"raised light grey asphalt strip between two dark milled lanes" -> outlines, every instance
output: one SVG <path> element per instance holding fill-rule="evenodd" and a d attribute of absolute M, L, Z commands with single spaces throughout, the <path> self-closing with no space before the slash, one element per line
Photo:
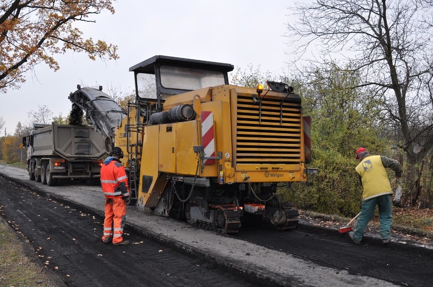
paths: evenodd
<path fill-rule="evenodd" d="M 80 209 L 104 216 L 104 195 L 100 187 L 48 187 L 28 180 L 26 170 L 1 165 L 0 174 L 50 196 L 56 201 L 79 206 Z M 179 252 L 205 258 L 222 267 L 236 270 L 259 281 L 280 286 L 395 286 L 373 277 L 350 274 L 347 270 L 324 267 L 314 262 L 266 248 L 251 242 L 197 229 L 186 223 L 128 208 L 128 228 Z M 101 231 L 102 232 L 102 231 Z M 249 254 L 249 255 L 247 255 Z"/>

